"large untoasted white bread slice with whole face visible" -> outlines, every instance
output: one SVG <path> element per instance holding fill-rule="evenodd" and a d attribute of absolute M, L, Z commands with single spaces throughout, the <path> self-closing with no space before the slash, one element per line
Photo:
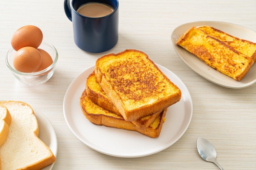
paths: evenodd
<path fill-rule="evenodd" d="M 11 114 L 9 135 L 0 146 L 1 170 L 40 170 L 55 162 L 52 151 L 38 137 L 39 127 L 30 105 L 4 101 Z"/>

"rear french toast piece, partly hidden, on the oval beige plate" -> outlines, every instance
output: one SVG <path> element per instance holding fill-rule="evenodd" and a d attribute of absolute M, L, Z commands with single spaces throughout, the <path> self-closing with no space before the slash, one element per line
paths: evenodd
<path fill-rule="evenodd" d="M 242 54 L 251 57 L 254 62 L 256 61 L 256 43 L 234 37 L 211 26 L 198 26 L 197 28 L 205 31 L 211 37 L 214 37 L 224 42 L 225 44 L 233 47 L 235 50 L 241 52 Z"/>

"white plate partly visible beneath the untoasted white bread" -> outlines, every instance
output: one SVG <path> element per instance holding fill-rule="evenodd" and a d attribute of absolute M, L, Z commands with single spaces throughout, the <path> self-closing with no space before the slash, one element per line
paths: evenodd
<path fill-rule="evenodd" d="M 39 126 L 39 138 L 52 150 L 52 153 L 57 157 L 58 142 L 56 133 L 51 122 L 46 118 L 46 116 L 40 111 L 34 109 L 36 119 Z M 54 163 L 43 168 L 42 170 L 51 170 L 54 166 Z"/>

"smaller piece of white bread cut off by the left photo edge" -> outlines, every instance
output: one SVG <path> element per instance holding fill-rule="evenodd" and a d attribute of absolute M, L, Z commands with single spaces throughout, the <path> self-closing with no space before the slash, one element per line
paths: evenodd
<path fill-rule="evenodd" d="M 7 139 L 10 124 L 11 115 L 8 109 L 4 105 L 0 105 L 0 146 L 2 146 Z"/>

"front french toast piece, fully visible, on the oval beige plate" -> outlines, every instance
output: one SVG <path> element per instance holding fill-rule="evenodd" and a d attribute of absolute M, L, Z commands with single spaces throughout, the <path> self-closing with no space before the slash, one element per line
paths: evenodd
<path fill-rule="evenodd" d="M 200 28 L 192 27 L 176 42 L 213 69 L 240 81 L 254 64 L 251 57 L 211 37 Z"/>

